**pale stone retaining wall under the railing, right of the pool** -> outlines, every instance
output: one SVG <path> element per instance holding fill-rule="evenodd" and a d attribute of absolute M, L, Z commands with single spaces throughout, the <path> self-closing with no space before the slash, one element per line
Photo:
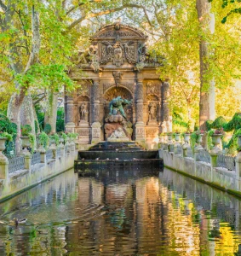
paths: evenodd
<path fill-rule="evenodd" d="M 164 166 L 169 169 L 241 196 L 238 162 L 236 163 L 236 171 L 229 171 L 226 168 L 215 167 L 203 161 L 196 161 L 190 157 L 183 157 L 181 154 L 168 152 L 168 150 L 159 149 L 158 151 L 159 157 L 164 160 Z"/>

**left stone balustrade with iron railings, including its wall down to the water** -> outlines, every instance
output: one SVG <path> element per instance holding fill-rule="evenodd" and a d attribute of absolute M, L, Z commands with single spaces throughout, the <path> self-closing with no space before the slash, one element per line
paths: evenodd
<path fill-rule="evenodd" d="M 66 143 L 47 151 L 42 147 L 34 154 L 4 157 L 0 161 L 0 201 L 73 168 L 77 150 L 72 145 Z"/>

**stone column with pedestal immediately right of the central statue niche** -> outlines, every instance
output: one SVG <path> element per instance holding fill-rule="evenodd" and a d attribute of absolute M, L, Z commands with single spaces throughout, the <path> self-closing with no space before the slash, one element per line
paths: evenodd
<path fill-rule="evenodd" d="M 143 79 L 137 79 L 136 84 L 135 141 L 145 142 L 145 127 L 143 122 Z"/>

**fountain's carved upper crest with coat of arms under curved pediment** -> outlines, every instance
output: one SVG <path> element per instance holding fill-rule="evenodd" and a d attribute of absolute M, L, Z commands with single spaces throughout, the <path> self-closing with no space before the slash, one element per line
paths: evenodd
<path fill-rule="evenodd" d="M 141 30 L 120 22 L 102 26 L 91 38 L 92 44 L 81 62 L 95 73 L 106 67 L 131 67 L 139 72 L 150 64 L 156 67 L 157 58 L 152 59 L 147 53 L 146 39 Z"/>

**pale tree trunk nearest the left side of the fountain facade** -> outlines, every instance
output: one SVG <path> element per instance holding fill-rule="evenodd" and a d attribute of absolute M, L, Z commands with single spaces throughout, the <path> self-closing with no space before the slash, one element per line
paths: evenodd
<path fill-rule="evenodd" d="M 45 116 L 44 125 L 49 124 L 52 127 L 51 132 L 56 132 L 57 108 L 58 108 L 58 92 L 50 92 L 49 103 Z"/>

